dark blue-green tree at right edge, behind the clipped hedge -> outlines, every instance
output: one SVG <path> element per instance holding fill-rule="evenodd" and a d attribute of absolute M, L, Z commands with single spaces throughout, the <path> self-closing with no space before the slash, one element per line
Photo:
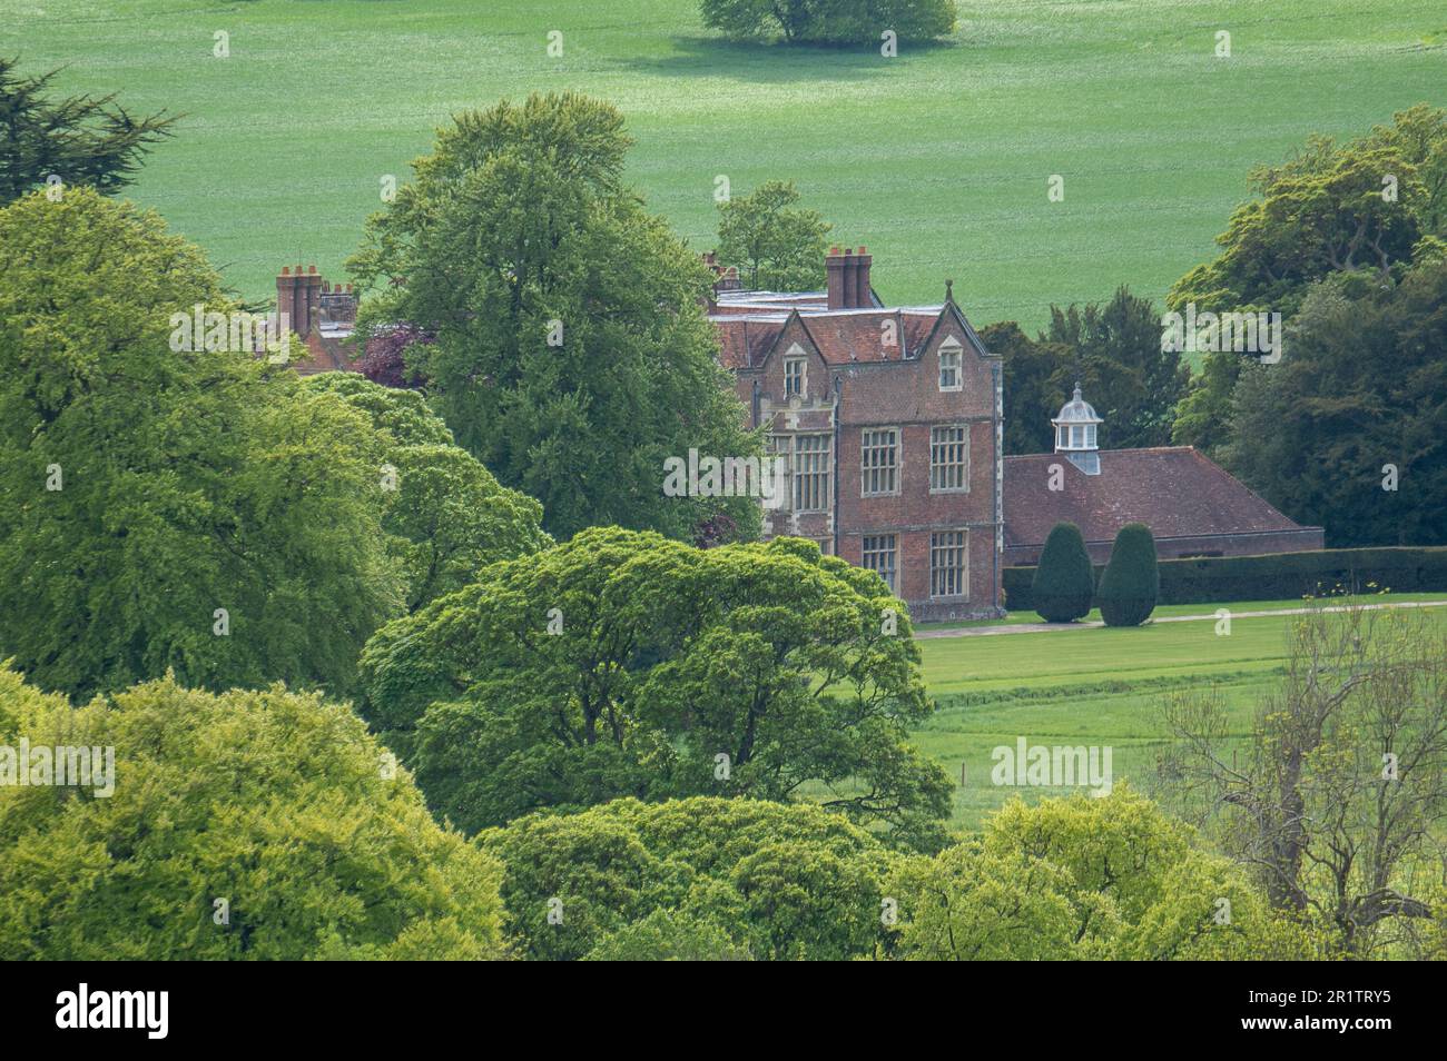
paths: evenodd
<path fill-rule="evenodd" d="M 1447 544 L 1447 262 L 1307 296 L 1231 392 L 1224 464 L 1334 546 Z"/>

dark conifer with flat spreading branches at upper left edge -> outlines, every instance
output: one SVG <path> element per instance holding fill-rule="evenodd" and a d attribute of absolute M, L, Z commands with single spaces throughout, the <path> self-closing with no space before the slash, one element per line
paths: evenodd
<path fill-rule="evenodd" d="M 171 136 L 179 116 L 136 117 L 116 95 L 49 100 L 61 71 L 22 77 L 19 61 L 0 56 L 0 205 L 45 185 L 90 185 L 113 192 L 135 179 L 140 156 Z"/>

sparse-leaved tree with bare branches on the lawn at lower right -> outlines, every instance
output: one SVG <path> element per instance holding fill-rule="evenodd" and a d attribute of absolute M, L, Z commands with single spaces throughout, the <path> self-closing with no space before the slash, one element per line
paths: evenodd
<path fill-rule="evenodd" d="M 1314 609 L 1286 674 L 1230 740 L 1218 691 L 1165 705 L 1162 778 L 1272 903 L 1350 957 L 1391 955 L 1441 911 L 1447 639 L 1402 610 Z"/>

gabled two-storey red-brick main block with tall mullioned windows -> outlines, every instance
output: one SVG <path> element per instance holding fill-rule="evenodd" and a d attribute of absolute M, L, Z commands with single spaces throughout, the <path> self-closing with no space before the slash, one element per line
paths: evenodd
<path fill-rule="evenodd" d="M 886 308 L 864 247 L 829 252 L 822 292 L 738 291 L 708 260 L 722 361 L 787 471 L 765 536 L 878 571 L 917 620 L 998 614 L 1001 366 L 949 288 Z"/>

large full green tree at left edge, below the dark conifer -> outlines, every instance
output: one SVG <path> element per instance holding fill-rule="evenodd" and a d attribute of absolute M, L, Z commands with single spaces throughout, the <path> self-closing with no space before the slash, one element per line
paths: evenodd
<path fill-rule="evenodd" d="M 172 314 L 234 306 L 152 212 L 35 192 L 0 247 L 0 656 L 82 697 L 346 688 L 399 604 L 378 432 L 249 351 L 172 350 Z"/>

